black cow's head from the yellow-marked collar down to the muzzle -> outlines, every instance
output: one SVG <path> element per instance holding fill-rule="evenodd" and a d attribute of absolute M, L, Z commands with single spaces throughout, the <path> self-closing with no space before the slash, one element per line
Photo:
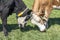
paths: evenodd
<path fill-rule="evenodd" d="M 26 26 L 27 21 L 30 19 L 30 12 L 31 10 L 26 8 L 22 13 L 18 14 L 19 27 L 24 28 Z"/>

